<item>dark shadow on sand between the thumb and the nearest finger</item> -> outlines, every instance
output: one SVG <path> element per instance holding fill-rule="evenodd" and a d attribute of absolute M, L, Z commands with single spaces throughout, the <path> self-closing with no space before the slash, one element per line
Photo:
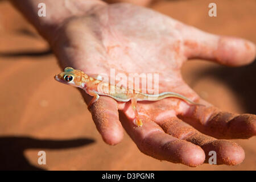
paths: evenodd
<path fill-rule="evenodd" d="M 197 74 L 195 80 L 200 80 L 200 77 L 206 76 L 224 82 L 237 94 L 245 112 L 256 114 L 256 60 L 243 67 L 230 68 L 218 65 L 215 68 L 205 69 Z"/>

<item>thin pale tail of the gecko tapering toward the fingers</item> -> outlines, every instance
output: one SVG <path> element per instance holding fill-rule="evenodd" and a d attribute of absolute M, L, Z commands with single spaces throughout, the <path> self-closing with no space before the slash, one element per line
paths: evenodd
<path fill-rule="evenodd" d="M 189 98 L 182 96 L 181 94 L 175 93 L 175 92 L 163 92 L 160 94 L 143 94 L 143 96 L 147 97 L 147 101 L 159 101 L 167 97 L 173 97 L 173 98 L 179 98 L 183 101 L 188 102 L 189 104 L 193 105 L 199 105 L 199 106 L 205 106 L 203 104 L 199 104 L 196 102 L 191 101 Z"/>

